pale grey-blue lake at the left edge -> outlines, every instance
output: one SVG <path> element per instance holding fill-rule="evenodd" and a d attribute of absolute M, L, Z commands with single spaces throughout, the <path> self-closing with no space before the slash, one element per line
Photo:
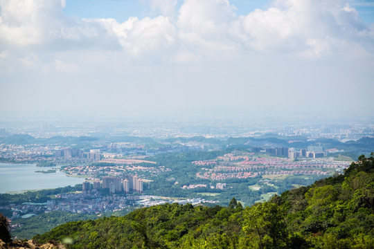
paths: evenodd
<path fill-rule="evenodd" d="M 56 169 L 58 167 L 53 167 Z M 22 192 L 24 190 L 44 190 L 56 187 L 74 186 L 84 182 L 84 178 L 69 177 L 56 169 L 56 173 L 37 173 L 51 167 L 36 167 L 33 164 L 0 163 L 0 193 Z"/>

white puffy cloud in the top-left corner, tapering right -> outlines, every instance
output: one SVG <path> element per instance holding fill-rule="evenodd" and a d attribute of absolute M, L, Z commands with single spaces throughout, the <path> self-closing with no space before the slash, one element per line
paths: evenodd
<path fill-rule="evenodd" d="M 46 49 L 101 44 L 108 34 L 98 25 L 74 21 L 62 13 L 64 0 L 1 0 L 0 44 L 9 47 L 43 46 Z M 112 37 L 114 39 L 115 37 Z"/>

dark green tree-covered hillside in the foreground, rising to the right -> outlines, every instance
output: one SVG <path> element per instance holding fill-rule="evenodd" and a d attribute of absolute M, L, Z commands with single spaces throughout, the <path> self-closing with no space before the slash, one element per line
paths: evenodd
<path fill-rule="evenodd" d="M 374 158 L 242 208 L 165 204 L 34 237 L 66 248 L 374 248 Z"/>

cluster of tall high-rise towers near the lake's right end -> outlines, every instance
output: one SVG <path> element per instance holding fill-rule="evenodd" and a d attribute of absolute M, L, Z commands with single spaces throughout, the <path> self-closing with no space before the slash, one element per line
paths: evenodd
<path fill-rule="evenodd" d="M 145 180 L 139 178 L 139 176 L 104 176 L 102 183 L 100 181 L 94 181 L 94 190 L 98 189 L 109 189 L 109 193 L 130 192 L 143 193 L 143 183 Z M 82 183 L 82 190 L 89 191 L 91 189 L 91 183 L 88 181 Z"/>

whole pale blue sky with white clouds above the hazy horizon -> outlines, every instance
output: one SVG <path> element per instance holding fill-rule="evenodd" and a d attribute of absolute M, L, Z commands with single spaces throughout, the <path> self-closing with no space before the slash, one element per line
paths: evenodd
<path fill-rule="evenodd" d="M 6 116 L 374 116 L 374 1 L 0 0 Z"/>

